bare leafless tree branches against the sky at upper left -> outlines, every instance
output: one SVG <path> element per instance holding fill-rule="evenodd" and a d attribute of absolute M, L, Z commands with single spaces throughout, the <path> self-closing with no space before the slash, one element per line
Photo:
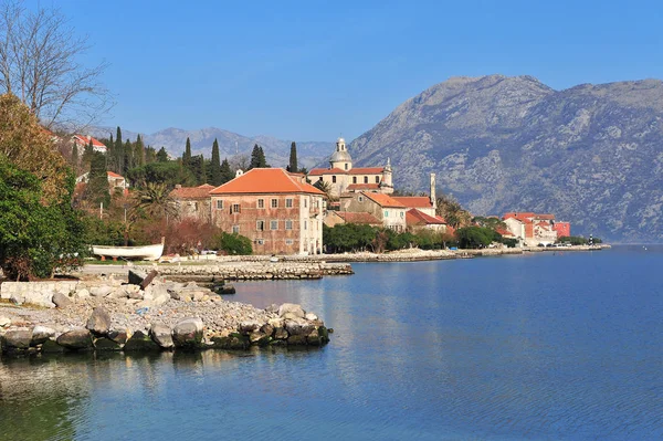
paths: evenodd
<path fill-rule="evenodd" d="M 88 49 L 60 10 L 0 0 L 0 93 L 19 96 L 46 127 L 74 132 L 113 106 L 101 82 L 108 63 L 80 63 Z"/>

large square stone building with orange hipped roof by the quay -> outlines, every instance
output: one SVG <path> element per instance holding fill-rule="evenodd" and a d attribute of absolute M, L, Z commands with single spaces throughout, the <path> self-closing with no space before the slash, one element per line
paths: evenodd
<path fill-rule="evenodd" d="M 322 253 L 325 193 L 303 175 L 254 168 L 209 195 L 212 222 L 249 238 L 255 254 Z"/>

